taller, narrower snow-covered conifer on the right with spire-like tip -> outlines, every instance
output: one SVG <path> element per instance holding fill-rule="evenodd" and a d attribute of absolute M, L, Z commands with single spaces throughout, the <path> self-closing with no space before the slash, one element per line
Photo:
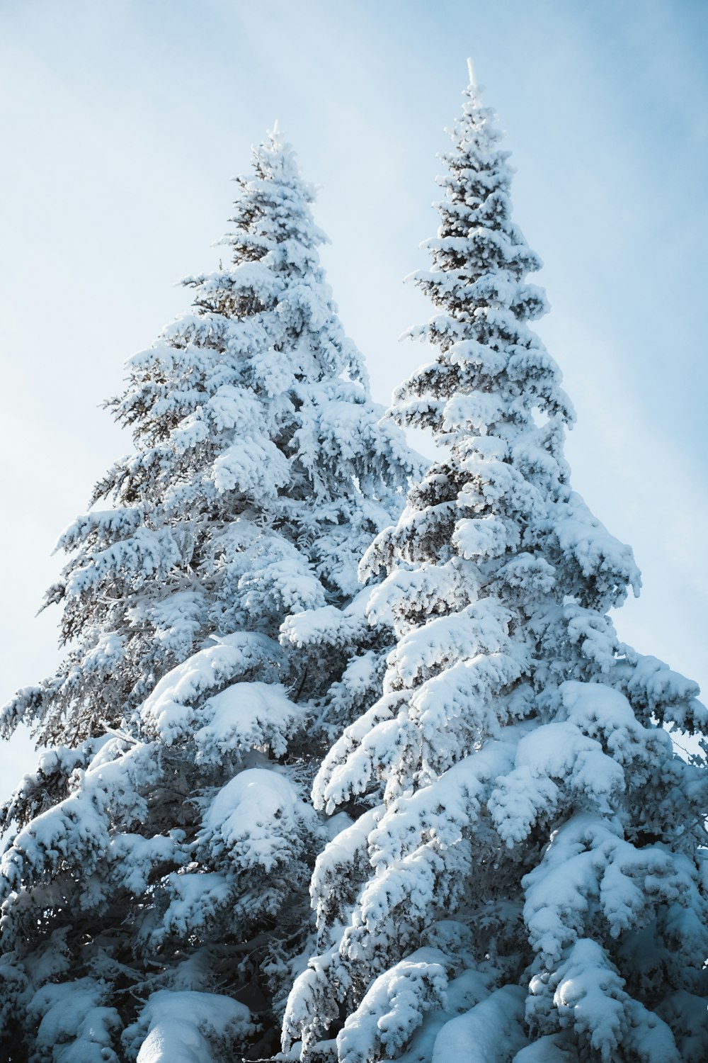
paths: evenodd
<path fill-rule="evenodd" d="M 471 71 L 470 71 L 471 73 Z M 569 488 L 540 267 L 470 79 L 441 180 L 435 359 L 394 415 L 443 451 L 364 563 L 398 642 L 315 783 L 368 805 L 318 857 L 320 955 L 291 993 L 308 1063 L 708 1059 L 697 687 L 617 639 L 632 552 Z M 336 1034 L 334 1039 L 334 1034 Z"/>

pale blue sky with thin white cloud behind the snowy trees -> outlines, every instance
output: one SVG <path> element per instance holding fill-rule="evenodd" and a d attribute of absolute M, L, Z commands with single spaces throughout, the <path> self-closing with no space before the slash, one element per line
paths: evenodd
<path fill-rule="evenodd" d="M 51 552 L 131 449 L 101 403 L 217 266 L 276 118 L 375 398 L 427 360 L 403 277 L 468 55 L 546 264 L 573 486 L 643 573 L 620 637 L 708 689 L 706 54 L 702 0 L 0 0 L 0 703 L 58 662 Z M 33 761 L 0 743 L 0 797 Z"/>

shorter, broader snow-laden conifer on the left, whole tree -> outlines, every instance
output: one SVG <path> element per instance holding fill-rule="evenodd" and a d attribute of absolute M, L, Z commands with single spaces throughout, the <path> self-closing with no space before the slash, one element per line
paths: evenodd
<path fill-rule="evenodd" d="M 4 808 L 3 1061 L 277 1044 L 327 709 L 378 696 L 357 566 L 419 468 L 378 423 L 277 131 L 254 166 L 232 267 L 187 280 L 193 313 L 109 404 L 137 450 L 62 537 L 66 661 L 3 712 L 51 746 Z"/>

